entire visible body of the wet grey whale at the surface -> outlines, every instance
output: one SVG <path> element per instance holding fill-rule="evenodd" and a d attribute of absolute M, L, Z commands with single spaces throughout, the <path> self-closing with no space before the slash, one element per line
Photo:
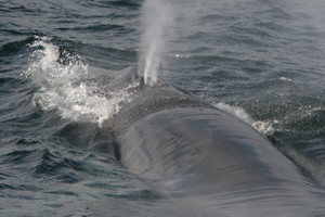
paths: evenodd
<path fill-rule="evenodd" d="M 103 128 L 131 173 L 196 203 L 203 216 L 325 214 L 316 196 L 324 192 L 247 124 L 176 85 L 145 86 L 136 68 L 113 77 L 105 91 L 125 89 L 131 100 Z"/>

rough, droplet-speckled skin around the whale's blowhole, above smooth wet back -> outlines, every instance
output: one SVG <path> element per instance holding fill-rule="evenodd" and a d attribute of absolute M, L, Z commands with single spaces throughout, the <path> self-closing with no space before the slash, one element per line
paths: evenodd
<path fill-rule="evenodd" d="M 139 76 L 135 67 L 129 67 L 115 75 L 113 81 L 106 86 L 105 92 L 126 97 L 119 104 L 119 112 L 103 123 L 105 129 L 116 135 L 123 132 L 140 118 L 165 108 L 188 106 L 213 108 L 190 91 L 162 79 L 158 78 L 153 87 L 144 85 L 143 77 Z"/>

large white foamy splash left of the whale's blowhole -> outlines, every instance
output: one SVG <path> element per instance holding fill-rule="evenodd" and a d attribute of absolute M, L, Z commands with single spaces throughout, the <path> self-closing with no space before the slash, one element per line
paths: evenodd
<path fill-rule="evenodd" d="M 87 61 L 60 51 L 51 39 L 37 38 L 29 46 L 35 51 L 24 76 L 39 87 L 32 100 L 42 111 L 56 108 L 63 118 L 94 120 L 101 125 L 118 113 L 121 101 L 129 99 L 122 91 L 106 98 L 101 82 L 89 81 Z"/>

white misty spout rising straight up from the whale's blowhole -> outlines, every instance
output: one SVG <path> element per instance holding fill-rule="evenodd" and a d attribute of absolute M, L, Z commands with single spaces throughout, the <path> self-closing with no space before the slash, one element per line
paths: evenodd
<path fill-rule="evenodd" d="M 164 33 L 171 22 L 171 9 L 166 0 L 145 0 L 142 7 L 144 31 L 139 60 L 140 74 L 143 73 L 145 85 L 154 86 L 157 81 L 158 68 L 166 51 Z"/>

